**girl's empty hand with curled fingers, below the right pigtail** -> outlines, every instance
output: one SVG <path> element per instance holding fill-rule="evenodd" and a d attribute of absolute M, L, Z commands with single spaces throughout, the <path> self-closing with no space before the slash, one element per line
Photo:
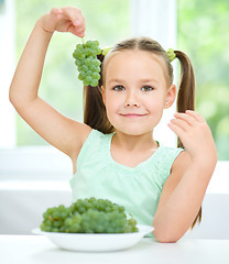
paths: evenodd
<path fill-rule="evenodd" d="M 175 113 L 168 127 L 181 139 L 193 162 L 199 165 L 214 165 L 217 162 L 216 145 L 205 119 L 190 110 Z"/>

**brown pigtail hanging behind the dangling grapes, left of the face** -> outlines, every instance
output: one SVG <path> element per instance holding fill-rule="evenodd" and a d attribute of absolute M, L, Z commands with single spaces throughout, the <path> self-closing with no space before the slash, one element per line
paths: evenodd
<path fill-rule="evenodd" d="M 103 55 L 98 59 L 103 61 Z M 101 75 L 101 73 L 100 73 Z M 101 96 L 102 76 L 97 87 L 84 86 L 84 123 L 91 129 L 96 129 L 105 134 L 113 132 L 113 127 L 109 122 Z"/>

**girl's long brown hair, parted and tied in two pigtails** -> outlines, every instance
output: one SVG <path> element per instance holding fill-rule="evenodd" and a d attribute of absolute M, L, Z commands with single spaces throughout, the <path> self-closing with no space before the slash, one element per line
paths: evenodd
<path fill-rule="evenodd" d="M 84 87 L 84 122 L 92 129 L 99 130 L 102 133 L 111 133 L 115 128 L 109 122 L 106 113 L 106 108 L 102 102 L 101 86 L 105 81 L 106 65 L 113 54 L 124 51 L 146 51 L 161 58 L 166 67 L 166 79 L 168 85 L 173 84 L 173 66 L 164 48 L 150 37 L 133 37 L 116 44 L 111 51 L 106 55 L 99 55 L 101 61 L 101 78 L 97 87 Z M 181 51 L 175 51 L 175 55 L 181 63 L 181 78 L 178 85 L 177 96 L 177 111 L 185 112 L 186 110 L 195 109 L 195 77 L 192 63 L 187 55 Z M 177 141 L 177 146 L 183 147 L 181 140 Z M 201 221 L 201 207 L 192 224 L 192 229 L 196 222 Z"/>

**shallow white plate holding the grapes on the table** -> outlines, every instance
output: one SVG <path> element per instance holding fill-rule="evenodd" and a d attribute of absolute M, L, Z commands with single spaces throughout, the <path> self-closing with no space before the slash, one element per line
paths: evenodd
<path fill-rule="evenodd" d="M 47 237 L 54 244 L 70 251 L 118 251 L 137 244 L 145 234 L 151 233 L 151 226 L 137 226 L 134 233 L 57 233 L 44 232 L 40 228 L 33 229 L 32 233 Z"/>

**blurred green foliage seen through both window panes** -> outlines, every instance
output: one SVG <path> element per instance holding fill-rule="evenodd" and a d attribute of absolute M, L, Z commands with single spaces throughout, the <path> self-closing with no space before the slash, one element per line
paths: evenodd
<path fill-rule="evenodd" d="M 130 36 L 130 0 L 15 0 L 17 61 L 36 20 L 51 8 L 76 6 L 86 16 L 86 40 L 111 46 Z M 196 73 L 196 110 L 212 131 L 219 160 L 229 160 L 229 1 L 177 0 L 177 47 L 186 52 Z M 83 86 L 72 53 L 80 38 L 54 34 L 40 95 L 59 112 L 83 121 Z M 18 145 L 46 144 L 18 117 Z"/>

